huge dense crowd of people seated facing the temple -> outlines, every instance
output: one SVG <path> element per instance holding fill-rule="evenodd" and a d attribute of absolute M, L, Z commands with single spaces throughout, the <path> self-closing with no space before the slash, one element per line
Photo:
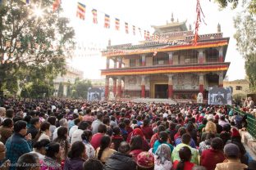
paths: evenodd
<path fill-rule="evenodd" d="M 7 99 L 0 106 L 0 170 L 256 169 L 241 141 L 243 119 L 225 105 Z"/>

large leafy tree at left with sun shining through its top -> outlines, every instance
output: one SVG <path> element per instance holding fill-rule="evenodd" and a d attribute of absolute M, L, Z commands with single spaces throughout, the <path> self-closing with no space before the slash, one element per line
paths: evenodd
<path fill-rule="evenodd" d="M 51 83 L 74 45 L 74 29 L 61 8 L 53 12 L 53 0 L 30 2 L 9 0 L 0 8 L 0 90 L 10 80 Z"/>

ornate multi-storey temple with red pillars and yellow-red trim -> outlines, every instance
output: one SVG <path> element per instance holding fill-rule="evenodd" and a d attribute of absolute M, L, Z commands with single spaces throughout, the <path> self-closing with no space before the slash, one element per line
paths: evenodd
<path fill-rule="evenodd" d="M 138 45 L 109 45 L 103 51 L 106 97 L 112 91 L 117 97 L 195 99 L 202 92 L 207 98 L 209 87 L 223 86 L 230 65 L 224 61 L 229 38 L 222 37 L 220 25 L 216 34 L 199 35 L 197 45 L 185 22 L 172 20 L 153 28 L 153 36 Z"/>

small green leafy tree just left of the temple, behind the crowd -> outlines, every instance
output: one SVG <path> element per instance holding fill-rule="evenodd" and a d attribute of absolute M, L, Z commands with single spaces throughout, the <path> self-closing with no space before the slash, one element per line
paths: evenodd
<path fill-rule="evenodd" d="M 89 87 L 92 87 L 92 83 L 89 80 L 75 80 L 75 84 L 72 86 L 72 97 L 73 98 L 84 98 L 87 99 L 87 93 Z"/>

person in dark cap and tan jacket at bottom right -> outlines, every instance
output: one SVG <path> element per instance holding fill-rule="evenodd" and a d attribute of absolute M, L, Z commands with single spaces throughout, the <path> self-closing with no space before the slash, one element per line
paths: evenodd
<path fill-rule="evenodd" d="M 215 170 L 243 170 L 247 165 L 240 163 L 240 150 L 235 144 L 226 144 L 224 147 L 224 154 L 226 161 L 224 163 L 217 163 Z"/>

